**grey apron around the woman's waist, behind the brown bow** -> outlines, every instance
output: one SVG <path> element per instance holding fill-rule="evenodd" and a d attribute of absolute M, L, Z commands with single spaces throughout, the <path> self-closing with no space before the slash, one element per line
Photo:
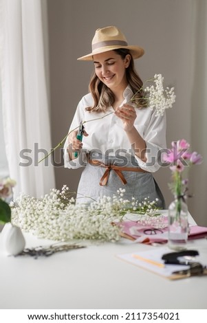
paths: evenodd
<path fill-rule="evenodd" d="M 130 168 L 139 167 L 133 156 L 130 156 L 130 158 L 127 159 L 127 163 L 125 159 L 124 164 L 123 160 L 120 161 L 120 159 L 111 156 L 99 160 L 106 165 L 109 163 Z M 113 194 L 117 194 L 117 190 L 124 188 L 124 199 L 131 201 L 131 198 L 134 197 L 140 203 L 144 201 L 144 198 L 148 198 L 149 201 L 158 199 L 157 206 L 165 209 L 164 197 L 151 172 L 122 170 L 122 175 L 124 175 L 124 178 L 127 180 L 127 183 L 123 184 L 116 172 L 111 169 L 107 184 L 105 186 L 100 186 L 100 179 L 102 175 L 104 175 L 105 170 L 106 168 L 104 167 L 93 166 L 87 163 L 87 166 L 85 166 L 80 177 L 76 203 L 91 203 L 103 196 L 113 197 Z"/>

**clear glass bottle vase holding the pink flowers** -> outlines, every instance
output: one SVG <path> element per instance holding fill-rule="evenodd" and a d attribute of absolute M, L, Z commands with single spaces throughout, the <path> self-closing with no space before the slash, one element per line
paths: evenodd
<path fill-rule="evenodd" d="M 168 207 L 168 247 L 186 249 L 188 240 L 188 206 L 182 198 L 175 198 Z"/>

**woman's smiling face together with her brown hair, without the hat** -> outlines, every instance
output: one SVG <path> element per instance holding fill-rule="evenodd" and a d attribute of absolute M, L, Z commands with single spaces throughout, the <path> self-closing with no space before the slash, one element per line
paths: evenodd
<path fill-rule="evenodd" d="M 129 49 L 114 49 L 113 51 L 105 52 L 102 54 L 96 54 L 94 57 L 95 71 L 91 78 L 89 89 L 94 98 L 94 107 L 90 110 L 106 111 L 109 103 L 116 110 L 122 103 L 123 96 L 122 88 L 126 88 L 128 83 L 133 89 L 135 98 L 138 100 L 138 106 L 145 106 L 146 101 L 142 99 L 144 93 L 142 91 L 142 80 L 135 72 L 133 66 L 133 58 Z M 100 60 L 100 62 L 96 62 Z M 96 85 L 98 82 L 98 85 Z M 96 96 L 96 86 L 102 87 L 102 92 L 108 94 L 99 100 L 99 96 Z M 113 96 L 110 96 L 111 91 L 113 91 Z"/>

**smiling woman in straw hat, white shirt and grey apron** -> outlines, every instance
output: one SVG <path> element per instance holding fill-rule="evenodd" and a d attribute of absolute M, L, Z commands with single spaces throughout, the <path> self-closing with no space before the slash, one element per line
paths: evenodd
<path fill-rule="evenodd" d="M 127 45 L 122 32 L 109 26 L 96 30 L 92 52 L 78 58 L 94 61 L 90 93 L 78 104 L 64 147 L 65 167 L 85 167 L 78 202 L 124 188 L 125 199 L 149 197 L 164 208 L 152 172 L 160 168 L 159 151 L 166 147 L 166 120 L 146 107 L 133 64 L 143 54 L 144 49 Z M 83 141 L 77 137 L 80 122 Z"/>

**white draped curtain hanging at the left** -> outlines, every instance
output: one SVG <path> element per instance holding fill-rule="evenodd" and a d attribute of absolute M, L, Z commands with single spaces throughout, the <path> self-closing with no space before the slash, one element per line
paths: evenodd
<path fill-rule="evenodd" d="M 0 0 L 3 125 L 10 177 L 20 192 L 41 197 L 54 188 L 41 0 Z M 40 153 L 40 150 L 44 153 Z"/>

